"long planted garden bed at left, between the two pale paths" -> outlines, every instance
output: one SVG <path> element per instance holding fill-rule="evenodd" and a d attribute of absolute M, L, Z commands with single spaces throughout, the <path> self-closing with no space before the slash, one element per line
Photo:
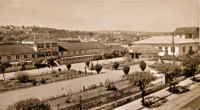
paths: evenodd
<path fill-rule="evenodd" d="M 28 73 L 22 73 L 28 74 Z M 84 77 L 88 75 L 94 75 L 93 72 L 84 73 L 82 71 L 70 70 L 70 71 L 52 71 L 51 73 L 28 76 L 26 82 L 21 82 L 17 78 L 12 78 L 10 80 L 0 82 L 0 93 L 18 90 L 23 88 L 29 88 L 33 86 L 40 86 L 42 84 L 49 84 L 63 80 L 69 80 L 79 77 Z"/>

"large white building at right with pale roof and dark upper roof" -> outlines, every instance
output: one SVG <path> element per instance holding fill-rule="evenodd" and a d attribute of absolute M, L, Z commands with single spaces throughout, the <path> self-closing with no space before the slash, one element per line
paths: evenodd
<path fill-rule="evenodd" d="M 187 55 L 189 50 L 199 49 L 199 28 L 177 28 L 173 35 L 153 36 L 148 39 L 136 41 L 133 45 L 150 45 L 161 49 L 165 55 Z M 174 42 L 173 42 L 174 41 Z M 173 49 L 174 44 L 174 49 Z"/>

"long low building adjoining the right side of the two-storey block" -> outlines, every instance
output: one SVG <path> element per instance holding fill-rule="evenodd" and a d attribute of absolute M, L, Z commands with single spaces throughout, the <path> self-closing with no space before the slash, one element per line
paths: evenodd
<path fill-rule="evenodd" d="M 59 42 L 60 64 L 90 61 L 95 54 L 102 54 L 106 46 L 98 42 L 67 43 Z"/>

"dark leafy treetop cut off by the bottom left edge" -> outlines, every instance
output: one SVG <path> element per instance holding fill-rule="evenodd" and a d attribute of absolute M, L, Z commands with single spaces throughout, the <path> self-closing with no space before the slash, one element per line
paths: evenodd
<path fill-rule="evenodd" d="M 39 99 L 30 98 L 9 105 L 7 110 L 51 110 L 51 106 Z"/>

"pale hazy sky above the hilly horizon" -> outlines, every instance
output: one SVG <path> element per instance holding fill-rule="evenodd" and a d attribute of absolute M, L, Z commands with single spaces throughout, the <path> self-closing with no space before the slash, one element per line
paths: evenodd
<path fill-rule="evenodd" d="M 0 0 L 0 25 L 171 32 L 199 26 L 199 0 Z"/>

